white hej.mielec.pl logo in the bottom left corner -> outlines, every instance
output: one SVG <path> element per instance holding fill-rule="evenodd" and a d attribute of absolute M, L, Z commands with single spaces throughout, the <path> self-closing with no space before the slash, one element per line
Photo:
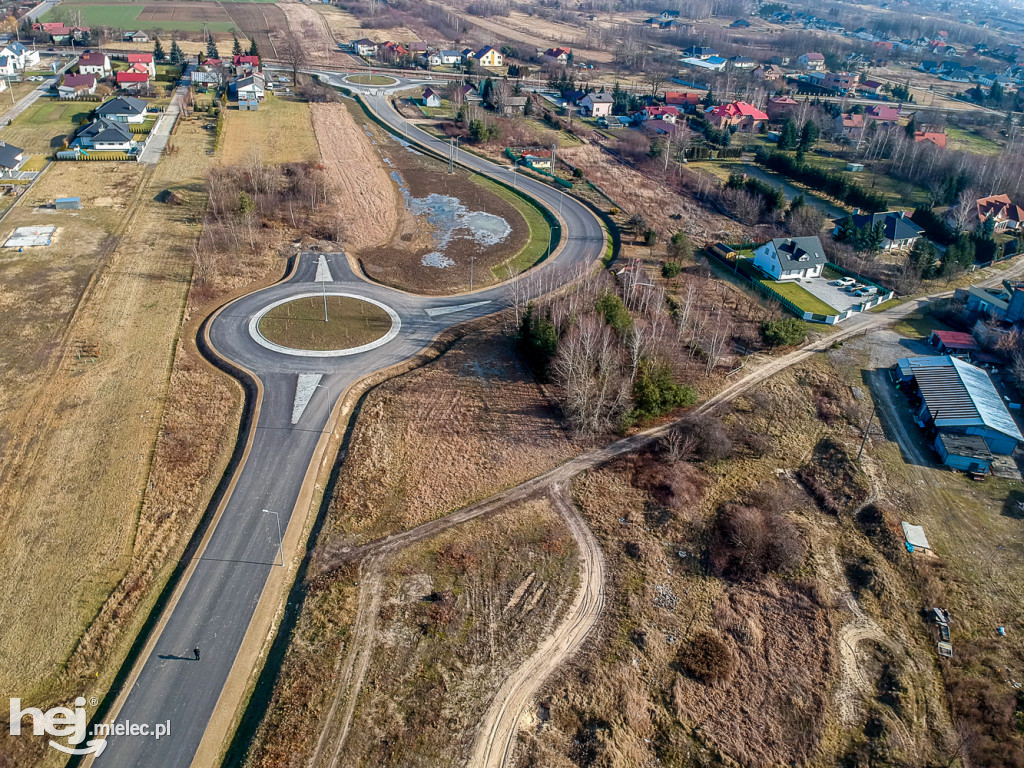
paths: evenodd
<path fill-rule="evenodd" d="M 106 736 L 154 736 L 160 739 L 171 734 L 171 721 L 157 723 L 150 726 L 148 723 L 124 722 L 96 723 L 92 726 L 91 732 L 88 727 L 88 718 L 85 714 L 85 697 L 79 696 L 75 699 L 75 709 L 68 707 L 54 707 L 43 712 L 36 707 L 26 707 L 22 709 L 22 699 L 10 699 L 10 735 L 19 736 L 22 734 L 22 724 L 26 718 L 31 720 L 32 733 L 36 736 L 51 736 L 49 743 L 54 750 L 59 750 L 66 755 L 90 755 L 97 757 L 106 749 Z M 96 736 L 86 741 L 88 736 Z M 67 740 L 67 744 L 54 741 L 54 738 Z M 84 746 L 80 746 L 82 742 Z"/>

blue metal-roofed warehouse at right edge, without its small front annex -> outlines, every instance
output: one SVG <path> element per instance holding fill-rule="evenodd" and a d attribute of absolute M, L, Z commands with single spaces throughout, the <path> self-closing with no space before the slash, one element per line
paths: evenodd
<path fill-rule="evenodd" d="M 919 424 L 939 432 L 978 435 L 993 454 L 1012 454 L 1024 435 L 1002 402 L 988 374 L 949 355 L 904 357 L 899 380 L 913 380 L 922 404 Z"/>

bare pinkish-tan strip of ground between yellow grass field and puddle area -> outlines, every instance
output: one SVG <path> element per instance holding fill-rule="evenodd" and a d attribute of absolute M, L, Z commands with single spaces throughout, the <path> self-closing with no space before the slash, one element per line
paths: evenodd
<path fill-rule="evenodd" d="M 338 207 L 346 247 L 359 250 L 387 242 L 398 223 L 398 198 L 380 155 L 344 104 L 309 109 L 325 172 L 336 199 L 346 201 Z"/>

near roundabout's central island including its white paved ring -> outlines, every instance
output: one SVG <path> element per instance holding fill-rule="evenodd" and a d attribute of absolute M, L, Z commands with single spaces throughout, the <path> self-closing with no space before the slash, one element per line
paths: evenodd
<path fill-rule="evenodd" d="M 387 344 L 401 318 L 387 304 L 337 291 L 306 291 L 267 304 L 249 321 L 260 346 L 299 357 L 342 357 Z"/>

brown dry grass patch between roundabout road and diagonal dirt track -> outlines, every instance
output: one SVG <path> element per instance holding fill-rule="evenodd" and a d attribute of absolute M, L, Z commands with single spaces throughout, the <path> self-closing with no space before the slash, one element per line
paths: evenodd
<path fill-rule="evenodd" d="M 380 387 L 362 407 L 329 525 L 349 543 L 418 525 L 582 450 L 497 330 Z"/>

